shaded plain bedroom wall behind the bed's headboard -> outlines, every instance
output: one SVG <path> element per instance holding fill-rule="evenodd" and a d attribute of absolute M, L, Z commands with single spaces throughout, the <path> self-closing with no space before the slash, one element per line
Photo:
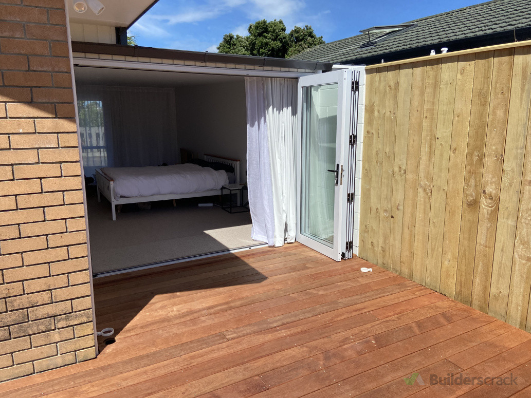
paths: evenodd
<path fill-rule="evenodd" d="M 245 80 L 182 86 L 175 89 L 178 142 L 181 148 L 240 161 L 247 181 Z"/>

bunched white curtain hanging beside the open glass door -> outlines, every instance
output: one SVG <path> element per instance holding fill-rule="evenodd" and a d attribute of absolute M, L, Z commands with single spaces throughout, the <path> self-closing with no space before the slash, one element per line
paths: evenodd
<path fill-rule="evenodd" d="M 295 241 L 297 82 L 246 77 L 247 186 L 253 239 Z M 265 239 L 264 239 L 265 238 Z"/>

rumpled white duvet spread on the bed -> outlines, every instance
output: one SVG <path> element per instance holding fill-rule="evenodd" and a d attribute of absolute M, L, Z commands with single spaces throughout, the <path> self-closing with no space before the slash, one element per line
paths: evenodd
<path fill-rule="evenodd" d="M 120 197 L 188 194 L 221 189 L 228 184 L 224 170 L 213 170 L 185 163 L 173 166 L 104 167 L 101 169 L 114 180 L 114 194 Z"/>

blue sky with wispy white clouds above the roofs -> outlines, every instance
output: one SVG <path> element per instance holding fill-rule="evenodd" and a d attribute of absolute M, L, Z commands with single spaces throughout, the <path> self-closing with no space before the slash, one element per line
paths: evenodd
<path fill-rule="evenodd" d="M 327 42 L 375 25 L 407 22 L 481 0 L 160 0 L 130 33 L 139 46 L 216 51 L 225 33 L 246 34 L 250 23 L 282 19 L 287 31 L 312 25 Z"/>

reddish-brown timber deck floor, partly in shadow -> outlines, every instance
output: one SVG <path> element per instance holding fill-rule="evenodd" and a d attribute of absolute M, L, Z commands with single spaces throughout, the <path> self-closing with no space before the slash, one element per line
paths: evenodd
<path fill-rule="evenodd" d="M 299 244 L 99 278 L 95 299 L 98 327 L 114 327 L 116 343 L 95 360 L 0 384 L 3 398 L 530 391 L 530 334 L 362 259 L 337 263 Z M 425 385 L 406 385 L 415 371 Z M 430 374 L 461 371 L 512 371 L 522 384 L 430 385 Z"/>

